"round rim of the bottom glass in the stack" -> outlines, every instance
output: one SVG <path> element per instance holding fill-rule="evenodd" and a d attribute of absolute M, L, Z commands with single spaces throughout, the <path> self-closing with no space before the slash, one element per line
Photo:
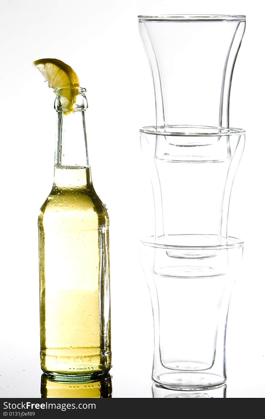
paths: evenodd
<path fill-rule="evenodd" d="M 220 238 L 217 234 L 168 234 L 167 236 L 203 236 L 203 237 L 215 237 Z M 212 245 L 176 245 L 176 244 L 166 244 L 166 243 L 159 243 L 157 239 L 164 237 L 159 236 L 156 238 L 155 236 L 147 236 L 140 240 L 140 244 L 143 246 L 149 246 L 154 248 L 161 248 L 161 249 L 175 249 L 175 250 L 224 250 L 224 249 L 232 249 L 232 248 L 240 248 L 244 246 L 244 242 L 236 237 L 228 236 L 227 238 L 221 237 L 221 240 L 226 241 L 223 244 L 212 244 Z"/>

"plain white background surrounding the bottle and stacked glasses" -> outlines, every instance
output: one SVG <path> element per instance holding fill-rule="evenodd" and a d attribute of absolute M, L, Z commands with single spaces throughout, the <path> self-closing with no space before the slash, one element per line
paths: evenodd
<path fill-rule="evenodd" d="M 227 332 L 228 397 L 265 396 L 264 12 L 260 1 L 9 0 L 1 3 L 0 397 L 39 397 L 37 217 L 53 179 L 54 96 L 31 62 L 56 57 L 87 88 L 90 164 L 111 220 L 113 397 L 151 397 L 152 309 L 139 263 L 151 185 L 139 128 L 155 122 L 138 14 L 245 14 L 231 126 L 246 147 L 229 234 L 244 239 L 244 269 Z"/>

